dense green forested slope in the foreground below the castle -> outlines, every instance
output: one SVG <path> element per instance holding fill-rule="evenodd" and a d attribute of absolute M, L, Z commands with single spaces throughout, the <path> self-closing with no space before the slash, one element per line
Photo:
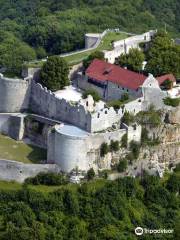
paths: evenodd
<path fill-rule="evenodd" d="M 0 239 L 178 240 L 179 181 L 177 172 L 164 179 L 145 175 L 51 190 L 50 186 L 0 182 Z M 8 190 L 12 184 L 18 189 Z M 137 226 L 173 233 L 136 236 Z"/>

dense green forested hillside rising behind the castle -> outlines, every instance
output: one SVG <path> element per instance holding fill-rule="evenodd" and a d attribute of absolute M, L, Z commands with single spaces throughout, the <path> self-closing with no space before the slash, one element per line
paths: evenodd
<path fill-rule="evenodd" d="M 174 35 L 180 31 L 179 0 L 0 0 L 0 6 L 0 54 L 10 40 L 43 57 L 79 49 L 84 33 L 106 28 L 138 33 L 166 23 Z M 27 60 L 33 56 L 32 50 Z"/>

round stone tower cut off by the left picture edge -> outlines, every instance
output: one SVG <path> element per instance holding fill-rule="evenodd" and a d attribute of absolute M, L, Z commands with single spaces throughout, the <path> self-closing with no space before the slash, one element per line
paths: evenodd
<path fill-rule="evenodd" d="M 29 99 L 29 80 L 5 78 L 0 75 L 0 112 L 15 113 L 27 110 Z"/>

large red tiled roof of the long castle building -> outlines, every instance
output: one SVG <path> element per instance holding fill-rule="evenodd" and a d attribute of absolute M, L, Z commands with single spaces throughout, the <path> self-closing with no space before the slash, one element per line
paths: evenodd
<path fill-rule="evenodd" d="M 111 81 L 122 87 L 136 90 L 147 76 L 132 72 L 102 60 L 94 59 L 86 70 L 86 75 L 97 81 Z"/>

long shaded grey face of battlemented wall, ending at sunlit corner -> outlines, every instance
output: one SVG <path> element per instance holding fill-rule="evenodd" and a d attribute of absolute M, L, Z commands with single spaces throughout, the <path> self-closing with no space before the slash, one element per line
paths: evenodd
<path fill-rule="evenodd" d="M 79 104 L 59 99 L 42 85 L 32 82 L 31 109 L 33 112 L 76 125 L 90 131 L 90 114 Z"/>

